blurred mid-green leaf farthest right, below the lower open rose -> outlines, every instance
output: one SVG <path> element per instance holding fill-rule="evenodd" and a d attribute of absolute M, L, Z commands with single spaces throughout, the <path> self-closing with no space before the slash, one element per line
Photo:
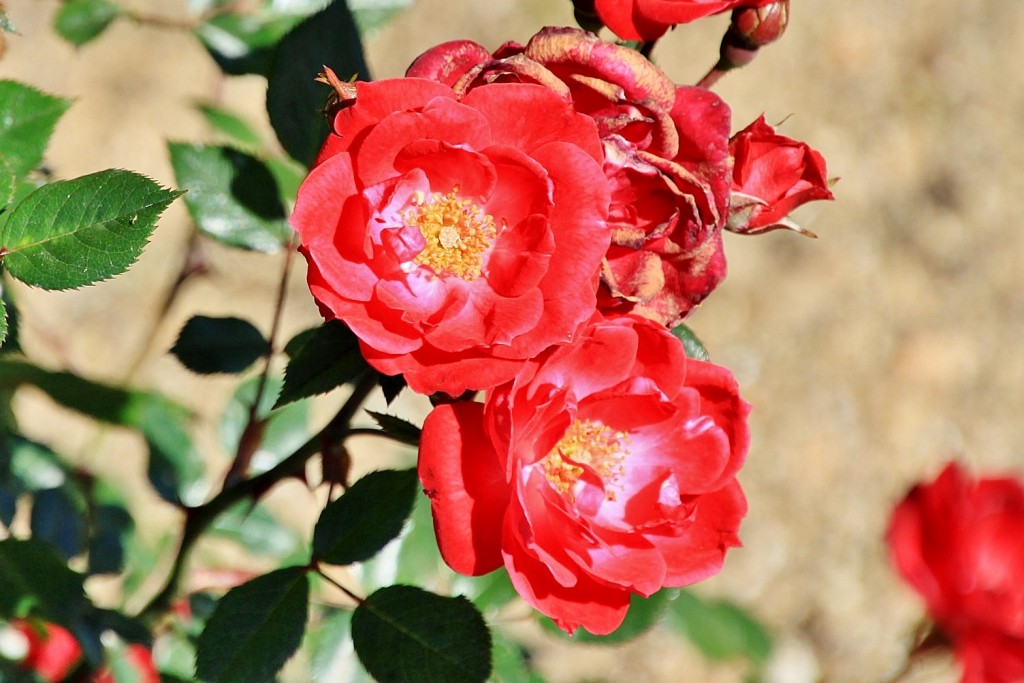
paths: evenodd
<path fill-rule="evenodd" d="M 764 627 L 725 600 L 703 600 L 691 591 L 680 591 L 669 623 L 709 659 L 746 657 L 763 664 L 771 654 L 771 637 Z"/>

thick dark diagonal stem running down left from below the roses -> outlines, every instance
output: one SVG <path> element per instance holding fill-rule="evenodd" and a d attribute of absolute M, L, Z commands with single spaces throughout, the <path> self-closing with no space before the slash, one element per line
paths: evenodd
<path fill-rule="evenodd" d="M 238 483 L 225 487 L 217 496 L 207 503 L 195 508 L 185 510 L 185 525 L 181 533 L 181 543 L 178 546 L 177 555 L 174 557 L 174 565 L 164 582 L 164 587 L 157 595 L 150 600 L 139 616 L 153 620 L 165 611 L 171 604 L 174 594 L 177 592 L 178 584 L 184 573 L 188 555 L 196 542 L 206 531 L 213 521 L 225 512 L 228 508 L 244 500 L 255 501 L 275 483 L 290 476 L 300 474 L 305 468 L 306 461 L 324 450 L 325 444 L 343 440 L 350 432 L 349 423 L 359 410 L 362 401 L 366 400 L 370 392 L 377 386 L 377 376 L 368 375 L 352 390 L 348 399 L 318 433 L 314 434 L 299 446 L 292 455 L 281 461 L 274 467 L 262 474 L 258 474 L 251 479 L 244 479 Z"/>

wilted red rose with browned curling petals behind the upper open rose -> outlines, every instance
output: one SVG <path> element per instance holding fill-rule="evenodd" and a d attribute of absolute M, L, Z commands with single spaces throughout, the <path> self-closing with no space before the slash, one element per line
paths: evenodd
<path fill-rule="evenodd" d="M 537 83 L 597 123 L 611 188 L 605 312 L 678 324 L 725 278 L 729 108 L 677 87 L 635 50 L 577 29 L 548 28 L 495 54 L 470 41 L 421 55 L 409 76 L 460 95 L 496 81 Z"/>

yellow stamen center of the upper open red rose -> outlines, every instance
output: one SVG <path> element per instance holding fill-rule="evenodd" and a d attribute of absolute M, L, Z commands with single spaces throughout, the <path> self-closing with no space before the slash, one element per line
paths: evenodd
<path fill-rule="evenodd" d="M 404 214 L 407 224 L 420 228 L 426 245 L 415 259 L 435 275 L 455 275 L 472 282 L 483 272 L 483 254 L 494 243 L 495 219 L 456 187 L 447 195 L 434 193 L 426 200 L 413 198 L 415 209 Z"/>

